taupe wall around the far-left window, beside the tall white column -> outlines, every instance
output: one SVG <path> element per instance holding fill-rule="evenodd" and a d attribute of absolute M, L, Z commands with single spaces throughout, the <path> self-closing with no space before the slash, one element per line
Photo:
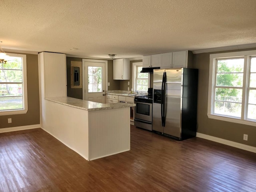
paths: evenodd
<path fill-rule="evenodd" d="M 0 116 L 0 128 L 40 124 L 38 56 L 34 54 L 26 55 L 28 112 L 26 114 Z M 12 123 L 8 123 L 8 118 L 12 118 Z"/>

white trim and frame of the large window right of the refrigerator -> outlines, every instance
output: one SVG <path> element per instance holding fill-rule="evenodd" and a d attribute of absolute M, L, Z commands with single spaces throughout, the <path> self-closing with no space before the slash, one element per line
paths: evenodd
<path fill-rule="evenodd" d="M 215 84 L 215 70 L 216 70 L 216 59 L 220 58 L 234 58 L 234 57 L 244 57 L 244 80 L 243 80 L 243 87 L 242 89 L 245 89 L 245 86 L 247 85 L 247 77 L 249 73 L 249 59 L 250 56 L 255 56 L 256 50 L 252 51 L 241 51 L 241 52 L 228 52 L 228 53 L 218 53 L 218 54 L 210 54 L 210 66 L 209 66 L 209 85 L 208 85 L 208 109 L 207 109 L 207 116 L 211 119 L 216 120 L 222 120 L 222 121 L 228 121 L 228 122 L 234 122 L 239 124 L 246 124 L 250 126 L 256 126 L 256 121 L 254 120 L 248 120 L 245 119 L 246 117 L 246 110 L 244 109 L 244 106 L 246 105 L 247 101 L 247 93 L 242 96 L 242 111 L 244 111 L 244 114 L 242 114 L 241 119 L 236 117 L 229 117 L 224 115 L 218 115 L 213 114 L 214 108 L 214 84 Z"/>

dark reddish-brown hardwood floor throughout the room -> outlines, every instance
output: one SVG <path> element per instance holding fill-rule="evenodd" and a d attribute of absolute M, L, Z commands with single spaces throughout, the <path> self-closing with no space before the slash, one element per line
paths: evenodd
<path fill-rule="evenodd" d="M 86 161 L 42 129 L 0 134 L 0 191 L 256 192 L 256 154 L 131 126 L 131 150 Z"/>

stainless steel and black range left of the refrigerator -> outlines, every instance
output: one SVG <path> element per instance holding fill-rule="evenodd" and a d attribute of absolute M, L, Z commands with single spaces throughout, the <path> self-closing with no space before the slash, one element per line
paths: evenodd
<path fill-rule="evenodd" d="M 134 102 L 134 126 L 152 131 L 152 88 L 149 88 L 147 96 L 136 96 Z"/>

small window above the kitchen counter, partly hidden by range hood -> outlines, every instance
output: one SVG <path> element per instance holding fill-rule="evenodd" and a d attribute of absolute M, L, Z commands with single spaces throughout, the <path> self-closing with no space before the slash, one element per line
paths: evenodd
<path fill-rule="evenodd" d="M 150 86 L 150 74 L 149 73 L 141 73 L 142 70 L 142 62 L 133 63 L 133 86 L 134 91 L 142 91 L 148 92 L 148 88 Z"/>

